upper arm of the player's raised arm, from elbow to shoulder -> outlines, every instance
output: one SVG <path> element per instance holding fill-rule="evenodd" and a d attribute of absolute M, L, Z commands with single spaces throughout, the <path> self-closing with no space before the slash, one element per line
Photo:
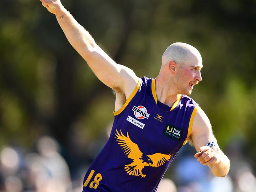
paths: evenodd
<path fill-rule="evenodd" d="M 117 64 L 99 46 L 92 48 L 83 58 L 98 79 L 108 87 L 126 92 L 128 84 L 136 86 L 138 78 L 135 73 L 130 68 Z"/>

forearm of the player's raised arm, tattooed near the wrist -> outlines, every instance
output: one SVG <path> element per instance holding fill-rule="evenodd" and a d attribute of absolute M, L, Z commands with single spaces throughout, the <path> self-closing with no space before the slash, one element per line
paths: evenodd
<path fill-rule="evenodd" d="M 91 48 L 96 46 L 93 37 L 64 7 L 59 9 L 55 15 L 70 44 L 82 57 L 86 57 Z"/>

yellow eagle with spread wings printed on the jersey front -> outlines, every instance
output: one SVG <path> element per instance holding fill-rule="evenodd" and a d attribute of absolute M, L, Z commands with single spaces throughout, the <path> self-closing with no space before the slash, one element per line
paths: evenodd
<path fill-rule="evenodd" d="M 128 132 L 127 137 L 124 136 L 121 130 L 120 133 L 116 129 L 115 138 L 127 157 L 133 160 L 130 164 L 124 166 L 124 170 L 129 175 L 141 176 L 144 178 L 146 175 L 141 171 L 145 166 L 158 168 L 165 162 L 170 161 L 170 158 L 173 156 L 173 154 L 166 155 L 162 153 L 145 155 L 139 150 L 138 145 L 132 142 Z"/>

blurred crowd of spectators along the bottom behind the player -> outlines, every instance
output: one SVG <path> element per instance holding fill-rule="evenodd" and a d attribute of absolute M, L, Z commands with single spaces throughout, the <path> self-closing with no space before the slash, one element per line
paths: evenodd
<path fill-rule="evenodd" d="M 106 138 L 108 134 L 109 130 Z M 95 140 L 89 156 L 93 158 L 99 152 L 95 149 L 100 150 L 102 144 L 102 139 Z M 208 167 L 199 164 L 193 157 L 195 150 L 187 144 L 179 151 L 157 192 L 254 192 L 254 171 L 244 159 L 241 147 L 241 141 L 228 146 L 226 153 L 232 169 L 221 178 L 214 177 Z M 81 192 L 90 163 L 89 158 L 84 159 L 76 168 L 69 169 L 59 143 L 49 136 L 36 140 L 31 151 L 20 146 L 4 146 L 0 152 L 0 192 Z"/>

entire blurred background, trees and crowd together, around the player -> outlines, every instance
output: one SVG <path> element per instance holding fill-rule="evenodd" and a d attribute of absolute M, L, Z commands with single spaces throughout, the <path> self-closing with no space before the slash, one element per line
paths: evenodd
<path fill-rule="evenodd" d="M 256 0 L 62 0 L 117 63 L 155 78 L 173 42 L 202 55 L 191 97 L 230 158 L 213 177 L 182 147 L 158 192 L 256 189 Z M 82 191 L 108 139 L 113 92 L 91 72 L 39 0 L 0 1 L 0 191 Z"/>

